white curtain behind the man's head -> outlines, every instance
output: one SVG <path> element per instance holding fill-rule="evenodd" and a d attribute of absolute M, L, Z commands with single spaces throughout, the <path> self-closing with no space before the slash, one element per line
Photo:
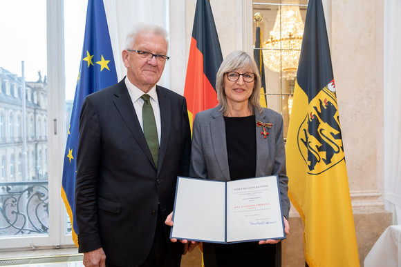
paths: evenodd
<path fill-rule="evenodd" d="M 169 0 L 104 0 L 104 9 L 113 46 L 115 68 L 120 81 L 127 74 L 121 59 L 127 32 L 138 22 L 153 23 L 169 31 Z M 169 87 L 169 73 L 169 64 L 166 64 L 158 84 Z"/>

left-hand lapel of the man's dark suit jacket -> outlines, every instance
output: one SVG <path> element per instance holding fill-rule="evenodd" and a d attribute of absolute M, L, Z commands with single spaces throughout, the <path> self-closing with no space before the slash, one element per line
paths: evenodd
<path fill-rule="evenodd" d="M 129 96 L 127 86 L 125 86 L 124 79 L 120 81 L 118 90 L 116 90 L 113 94 L 113 103 L 118 112 L 120 112 L 122 119 L 133 136 L 133 139 L 136 140 L 138 146 L 142 149 L 144 154 L 147 155 L 153 166 L 156 168 L 153 162 L 153 157 L 149 150 L 149 146 L 144 138 L 142 128 L 140 127 L 135 108 L 133 108 L 133 103 L 131 101 L 131 97 Z"/>

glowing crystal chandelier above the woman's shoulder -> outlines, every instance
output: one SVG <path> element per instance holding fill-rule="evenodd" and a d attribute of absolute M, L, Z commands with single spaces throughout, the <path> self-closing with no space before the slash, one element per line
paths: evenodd
<path fill-rule="evenodd" d="M 284 72 L 283 77 L 294 79 L 303 34 L 304 22 L 299 6 L 281 6 L 270 37 L 262 43 L 265 66 L 274 72 Z"/>

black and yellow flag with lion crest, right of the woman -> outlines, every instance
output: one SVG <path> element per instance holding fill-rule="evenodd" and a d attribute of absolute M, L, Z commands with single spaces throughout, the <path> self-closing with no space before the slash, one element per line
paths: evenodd
<path fill-rule="evenodd" d="M 308 265 L 360 266 L 321 0 L 308 3 L 286 155 Z"/>

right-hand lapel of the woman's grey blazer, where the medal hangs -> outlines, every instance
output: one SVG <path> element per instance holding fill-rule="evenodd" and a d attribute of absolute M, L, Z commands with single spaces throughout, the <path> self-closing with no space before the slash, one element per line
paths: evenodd
<path fill-rule="evenodd" d="M 266 121 L 266 114 L 263 110 L 261 114 L 259 114 L 259 110 L 254 110 L 255 114 L 255 128 L 256 128 L 256 135 L 257 135 L 257 169 L 256 169 L 256 177 L 265 176 L 265 168 L 268 164 L 269 159 L 269 146 L 268 146 L 268 136 L 266 139 L 263 137 L 261 132 L 263 132 L 263 128 L 257 127 L 257 121 L 261 121 L 263 123 L 269 122 Z M 268 128 L 266 128 L 268 131 Z"/>

